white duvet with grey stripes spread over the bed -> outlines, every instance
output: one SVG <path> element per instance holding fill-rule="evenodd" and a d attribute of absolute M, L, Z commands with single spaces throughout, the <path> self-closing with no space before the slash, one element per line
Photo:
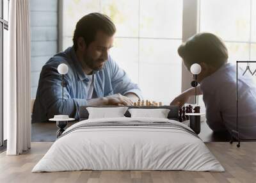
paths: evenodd
<path fill-rule="evenodd" d="M 225 171 L 200 138 L 168 127 L 90 127 L 93 122 L 170 122 L 163 118 L 106 118 L 78 122 L 57 139 L 32 172 L 72 170 Z M 189 129 L 191 131 L 191 129 Z"/>

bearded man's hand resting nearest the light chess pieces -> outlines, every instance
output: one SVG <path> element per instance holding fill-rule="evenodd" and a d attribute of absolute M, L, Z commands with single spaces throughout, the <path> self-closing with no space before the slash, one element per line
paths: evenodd
<path fill-rule="evenodd" d="M 107 106 L 133 106 L 132 100 L 120 93 L 103 98 L 106 99 Z"/>

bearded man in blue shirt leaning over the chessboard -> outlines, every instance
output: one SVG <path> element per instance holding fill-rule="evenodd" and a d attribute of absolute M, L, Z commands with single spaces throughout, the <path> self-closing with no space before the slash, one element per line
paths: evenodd
<path fill-rule="evenodd" d="M 52 56 L 42 68 L 32 122 L 45 122 L 59 114 L 78 119 L 79 106 L 131 106 L 142 99 L 138 85 L 109 55 L 115 31 L 111 19 L 101 13 L 90 13 L 77 22 L 74 45 Z M 57 70 L 61 63 L 68 66 L 63 101 Z"/>

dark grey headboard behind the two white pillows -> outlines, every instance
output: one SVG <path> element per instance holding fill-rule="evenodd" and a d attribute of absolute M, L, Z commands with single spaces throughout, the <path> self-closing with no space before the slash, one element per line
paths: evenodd
<path fill-rule="evenodd" d="M 86 107 L 118 107 L 118 106 L 80 106 L 79 107 L 79 118 L 80 120 L 88 119 L 89 113 Z M 167 118 L 170 120 L 177 120 L 179 121 L 179 107 L 178 106 L 127 106 L 129 109 L 131 108 L 141 108 L 141 109 L 170 109 Z M 127 110 L 124 114 L 126 117 L 131 117 L 131 114 Z"/>

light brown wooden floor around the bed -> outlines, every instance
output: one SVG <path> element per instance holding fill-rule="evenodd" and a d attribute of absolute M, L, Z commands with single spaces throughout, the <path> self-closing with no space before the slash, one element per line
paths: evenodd
<path fill-rule="evenodd" d="M 220 161 L 225 172 L 195 171 L 64 171 L 31 173 L 33 166 L 52 143 L 32 143 L 22 155 L 0 154 L 0 182 L 256 182 L 256 142 L 205 143 Z"/>

